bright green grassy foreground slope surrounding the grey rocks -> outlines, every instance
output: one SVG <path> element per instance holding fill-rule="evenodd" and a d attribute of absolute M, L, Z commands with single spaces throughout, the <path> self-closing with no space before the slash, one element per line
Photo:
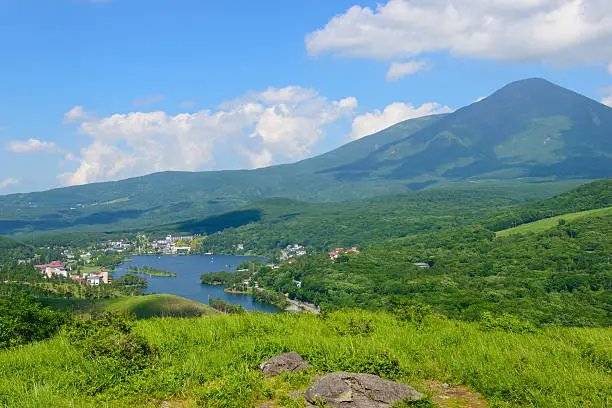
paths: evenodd
<path fill-rule="evenodd" d="M 485 330 L 478 323 L 386 313 L 220 315 L 140 320 L 158 353 L 126 373 L 124 360 L 87 354 L 67 334 L 0 352 L 0 406 L 297 407 L 289 392 L 312 375 L 369 372 L 413 385 L 462 384 L 495 407 L 604 407 L 612 403 L 612 332 L 545 328 Z M 295 350 L 308 373 L 265 379 L 259 363 Z M 456 405 L 467 407 L 470 405 Z"/>

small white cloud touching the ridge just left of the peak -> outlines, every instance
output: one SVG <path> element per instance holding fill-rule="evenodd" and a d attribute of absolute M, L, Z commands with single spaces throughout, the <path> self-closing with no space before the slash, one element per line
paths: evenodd
<path fill-rule="evenodd" d="M 353 120 L 351 139 L 361 139 L 408 119 L 449 112 L 453 112 L 453 109 L 439 103 L 424 103 L 417 108 L 410 104 L 395 102 L 382 111 L 375 110 L 357 116 Z"/>

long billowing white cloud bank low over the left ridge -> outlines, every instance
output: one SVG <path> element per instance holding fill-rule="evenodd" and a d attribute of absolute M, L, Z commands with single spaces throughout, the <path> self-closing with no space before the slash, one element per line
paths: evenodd
<path fill-rule="evenodd" d="M 78 112 L 81 149 L 65 184 L 113 180 L 165 170 L 201 170 L 223 146 L 250 168 L 301 159 L 325 136 L 325 126 L 351 116 L 357 100 L 329 101 L 312 89 L 269 88 L 221 104 L 217 110 L 169 115 L 163 111 L 96 117 Z M 74 110 L 74 109 L 73 109 Z M 72 111 L 71 111 L 72 112 Z"/>

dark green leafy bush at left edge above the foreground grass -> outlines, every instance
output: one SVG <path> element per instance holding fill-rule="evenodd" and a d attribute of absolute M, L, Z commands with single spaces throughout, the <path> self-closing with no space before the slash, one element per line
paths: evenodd
<path fill-rule="evenodd" d="M 66 320 L 26 294 L 0 298 L 0 349 L 51 337 Z"/>

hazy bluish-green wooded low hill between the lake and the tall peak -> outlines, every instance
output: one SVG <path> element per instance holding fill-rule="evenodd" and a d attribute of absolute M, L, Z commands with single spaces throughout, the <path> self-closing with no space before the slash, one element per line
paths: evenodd
<path fill-rule="evenodd" d="M 391 238 L 470 225 L 508 206 L 555 194 L 551 188 L 456 187 L 324 204 L 269 199 L 251 206 L 263 213 L 260 221 L 207 237 L 202 251 L 231 253 L 236 243 L 258 254 L 277 254 L 295 243 L 318 251 L 371 247 Z"/>

